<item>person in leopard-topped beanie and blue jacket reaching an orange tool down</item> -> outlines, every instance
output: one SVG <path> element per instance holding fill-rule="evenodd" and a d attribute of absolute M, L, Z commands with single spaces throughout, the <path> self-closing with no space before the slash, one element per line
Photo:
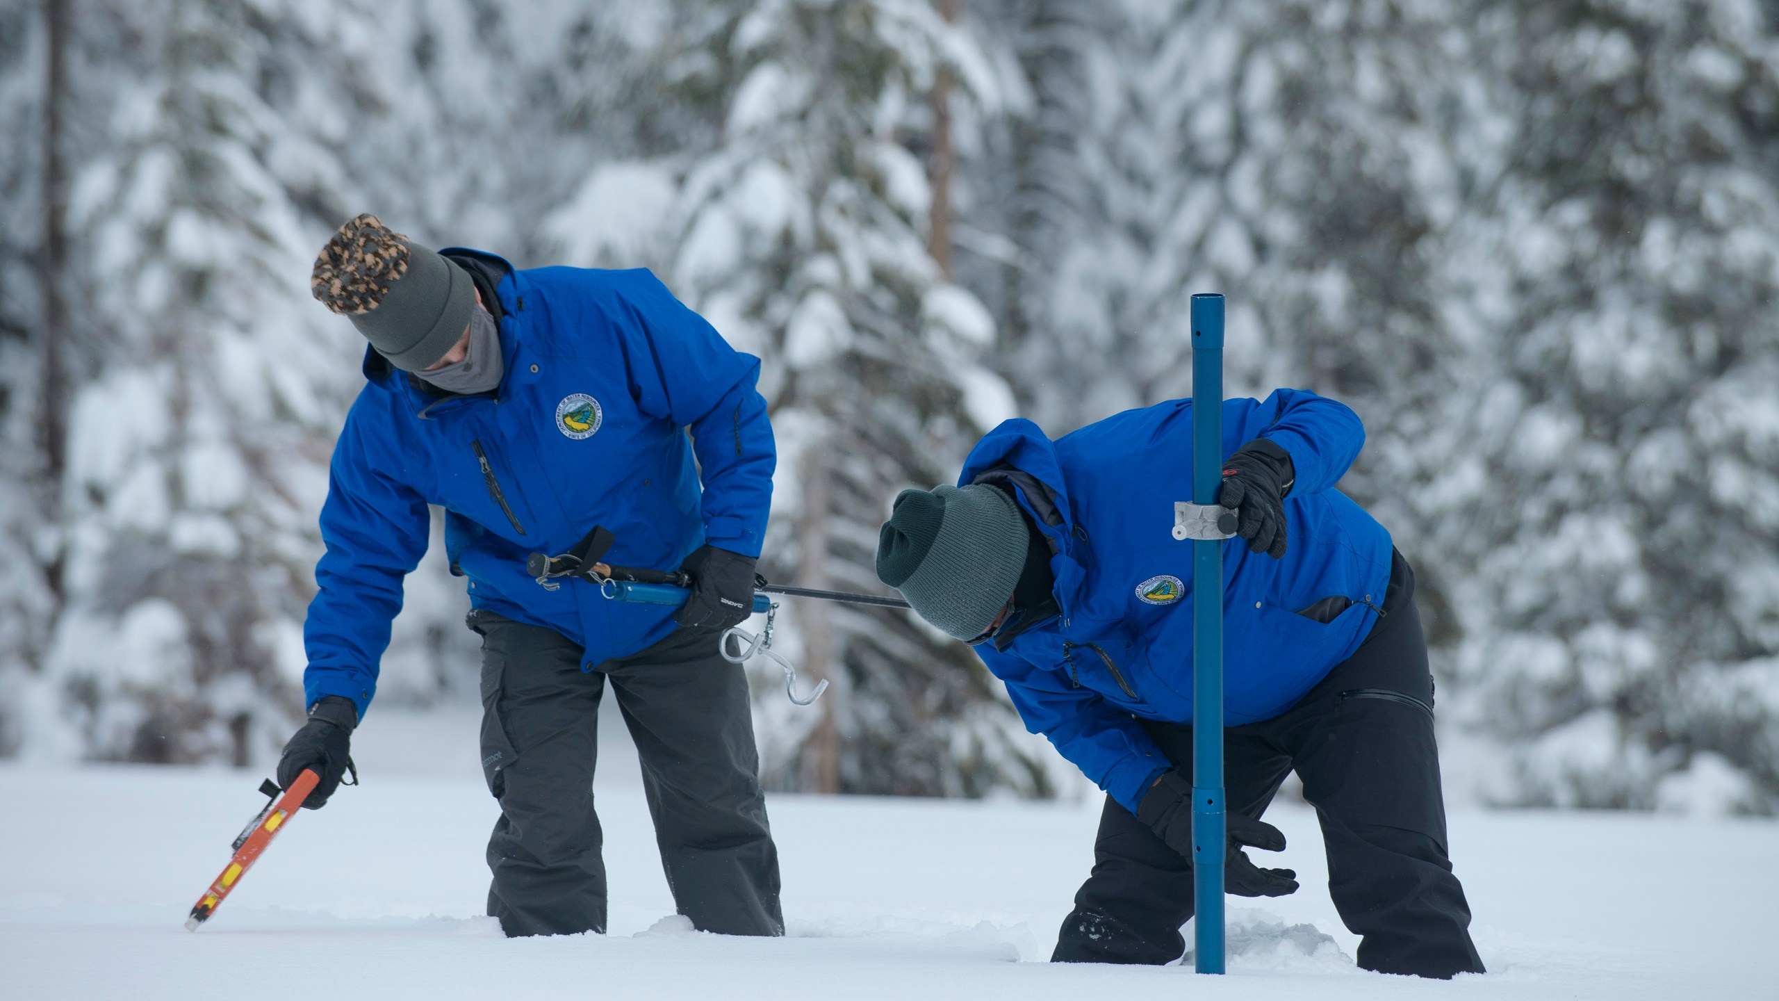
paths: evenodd
<path fill-rule="evenodd" d="M 320 515 L 310 718 L 279 784 L 317 769 L 317 809 L 356 778 L 349 736 L 439 506 L 482 636 L 482 769 L 500 802 L 487 912 L 507 935 L 605 930 L 592 769 L 610 680 L 680 912 L 706 932 L 781 935 L 747 682 L 717 647 L 753 606 L 772 497 L 760 360 L 648 271 L 514 271 L 374 216 L 334 233 L 311 287 L 370 347 Z M 610 565 L 688 570 L 687 606 L 527 574 L 528 552 L 566 552 L 596 525 Z"/>

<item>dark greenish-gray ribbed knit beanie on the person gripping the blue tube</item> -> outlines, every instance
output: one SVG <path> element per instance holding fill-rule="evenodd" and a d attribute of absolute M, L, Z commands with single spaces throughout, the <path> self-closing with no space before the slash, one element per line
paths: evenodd
<path fill-rule="evenodd" d="M 932 625 L 975 639 L 1012 598 L 1026 545 L 1018 504 L 993 486 L 904 490 L 877 536 L 877 579 Z"/>

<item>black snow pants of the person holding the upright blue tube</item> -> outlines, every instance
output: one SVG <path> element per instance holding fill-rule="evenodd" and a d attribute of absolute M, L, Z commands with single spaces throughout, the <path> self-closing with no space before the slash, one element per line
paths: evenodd
<path fill-rule="evenodd" d="M 1329 894 L 1363 937 L 1359 965 L 1436 978 L 1482 973 L 1469 905 L 1446 853 L 1434 682 L 1414 572 L 1400 552 L 1384 613 L 1352 657 L 1290 711 L 1224 730 L 1224 802 L 1260 818 L 1295 769 L 1322 821 Z M 1190 775 L 1192 727 L 1140 723 Z M 1185 953 L 1179 926 L 1192 905 L 1190 862 L 1108 798 L 1092 875 L 1051 962 L 1172 962 Z"/>

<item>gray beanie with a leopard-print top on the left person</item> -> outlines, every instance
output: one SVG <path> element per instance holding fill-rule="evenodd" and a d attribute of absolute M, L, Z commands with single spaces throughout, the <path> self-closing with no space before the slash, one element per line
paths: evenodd
<path fill-rule="evenodd" d="M 475 285 L 464 269 L 390 232 L 375 216 L 340 226 L 315 258 L 310 290 L 407 372 L 443 358 L 475 308 Z"/>

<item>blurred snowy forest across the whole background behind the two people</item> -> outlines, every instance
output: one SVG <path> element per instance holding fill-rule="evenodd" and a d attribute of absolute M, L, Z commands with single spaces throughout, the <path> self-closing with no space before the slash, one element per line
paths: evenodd
<path fill-rule="evenodd" d="M 276 755 L 375 212 L 760 354 L 808 586 L 994 422 L 1187 395 L 1226 292 L 1233 395 L 1368 426 L 1455 796 L 1779 809 L 1775 0 L 0 0 L 0 755 Z M 377 707 L 475 700 L 464 609 L 429 556 Z M 770 787 L 1057 791 L 968 648 L 781 636 Z"/>

